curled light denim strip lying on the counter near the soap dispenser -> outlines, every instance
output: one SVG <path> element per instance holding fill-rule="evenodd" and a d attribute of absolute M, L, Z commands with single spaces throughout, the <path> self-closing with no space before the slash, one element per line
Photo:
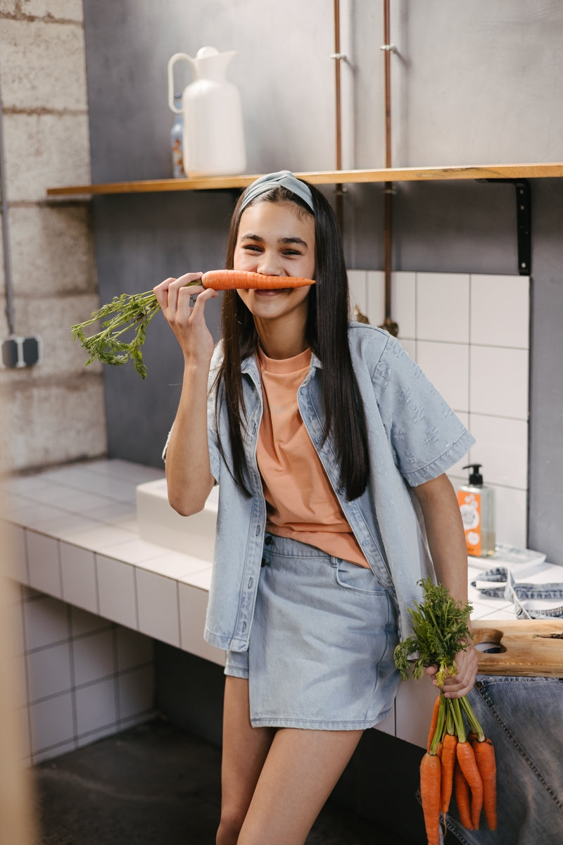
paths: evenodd
<path fill-rule="evenodd" d="M 490 581 L 491 586 L 479 586 L 480 581 Z M 523 581 L 515 581 L 511 570 L 504 566 L 497 566 L 495 569 L 480 574 L 479 579 L 472 581 L 471 584 L 477 587 L 484 596 L 506 598 L 508 602 L 513 602 L 517 619 L 563 616 L 563 604 L 555 608 L 536 607 L 538 600 L 554 601 L 563 598 L 563 583 L 527 584 Z M 499 586 L 492 586 L 494 584 Z"/>

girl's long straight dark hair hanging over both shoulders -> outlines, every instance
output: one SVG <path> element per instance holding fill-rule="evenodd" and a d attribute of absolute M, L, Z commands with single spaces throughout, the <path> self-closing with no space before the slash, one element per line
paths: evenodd
<path fill-rule="evenodd" d="M 348 345 L 348 276 L 333 209 L 317 188 L 312 185 L 308 187 L 311 189 L 314 206 L 317 283 L 311 286 L 308 294 L 306 339 L 322 363 L 325 415 L 322 442 L 329 435 L 333 440 L 340 466 L 339 486 L 346 491 L 346 499 L 351 500 L 357 499 L 364 492 L 370 466 L 364 407 Z M 244 194 L 235 206 L 230 223 L 225 260 L 228 270 L 233 269 L 243 198 Z M 283 186 L 261 194 L 249 205 L 257 202 L 291 203 L 299 214 L 311 215 L 309 206 Z M 222 330 L 224 357 L 218 373 L 217 387 L 219 389 L 222 385 L 227 406 L 233 462 L 230 472 L 241 489 L 250 495 L 241 433 L 246 416 L 241 362 L 256 352 L 258 341 L 252 313 L 236 291 L 225 291 L 223 294 Z M 217 395 L 220 395 L 220 390 Z M 216 415 L 219 423 L 219 407 L 216 408 Z M 223 452 L 220 441 L 219 449 Z"/>

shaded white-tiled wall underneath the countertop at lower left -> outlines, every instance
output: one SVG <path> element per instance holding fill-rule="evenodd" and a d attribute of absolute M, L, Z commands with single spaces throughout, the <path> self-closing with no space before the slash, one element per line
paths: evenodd
<path fill-rule="evenodd" d="M 26 760 L 48 760 L 154 715 L 153 641 L 14 584 Z"/>

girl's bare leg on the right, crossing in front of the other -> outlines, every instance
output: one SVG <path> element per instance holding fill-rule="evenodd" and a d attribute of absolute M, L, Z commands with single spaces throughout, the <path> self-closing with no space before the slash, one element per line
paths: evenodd
<path fill-rule="evenodd" d="M 279 728 L 238 845 L 303 845 L 361 734 Z"/>

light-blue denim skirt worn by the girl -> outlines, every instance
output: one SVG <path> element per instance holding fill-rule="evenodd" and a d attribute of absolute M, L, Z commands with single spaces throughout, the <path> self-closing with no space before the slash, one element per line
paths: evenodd
<path fill-rule="evenodd" d="M 267 534 L 250 645 L 227 652 L 225 674 L 248 679 L 253 727 L 372 728 L 397 692 L 397 643 L 371 570 Z"/>

